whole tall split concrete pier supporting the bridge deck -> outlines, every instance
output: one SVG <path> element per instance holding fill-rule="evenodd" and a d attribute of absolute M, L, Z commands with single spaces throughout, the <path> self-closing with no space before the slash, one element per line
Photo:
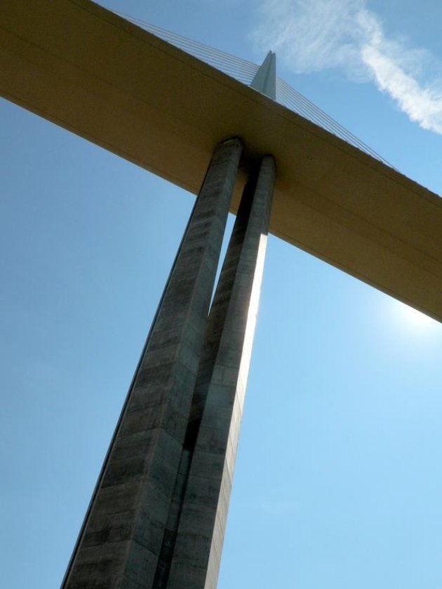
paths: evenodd
<path fill-rule="evenodd" d="M 63 589 L 216 587 L 274 186 L 266 156 L 209 311 L 241 150 L 215 149 Z"/>

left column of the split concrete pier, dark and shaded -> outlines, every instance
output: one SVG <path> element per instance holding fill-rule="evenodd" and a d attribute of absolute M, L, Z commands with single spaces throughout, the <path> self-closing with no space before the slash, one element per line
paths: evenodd
<path fill-rule="evenodd" d="M 215 150 L 62 585 L 65 589 L 152 587 L 240 156 L 237 139 Z"/>

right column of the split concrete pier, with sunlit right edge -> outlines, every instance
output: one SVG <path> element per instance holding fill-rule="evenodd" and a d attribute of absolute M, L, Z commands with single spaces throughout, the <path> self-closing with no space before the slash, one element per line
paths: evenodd
<path fill-rule="evenodd" d="M 260 295 L 274 161 L 246 187 L 208 321 L 186 444 L 192 452 L 167 589 L 215 589 Z M 254 194 L 253 194 L 254 192 Z"/>

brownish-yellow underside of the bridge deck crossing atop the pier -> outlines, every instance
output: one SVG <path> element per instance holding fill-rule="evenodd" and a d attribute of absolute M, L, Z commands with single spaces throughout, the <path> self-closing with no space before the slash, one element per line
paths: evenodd
<path fill-rule="evenodd" d="M 276 160 L 274 235 L 442 320 L 438 196 L 97 4 L 4 0 L 0 94 L 194 194 L 241 137 L 243 172 Z"/>

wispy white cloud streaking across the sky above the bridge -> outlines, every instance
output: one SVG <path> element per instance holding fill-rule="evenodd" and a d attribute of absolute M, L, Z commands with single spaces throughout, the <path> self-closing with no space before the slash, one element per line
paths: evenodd
<path fill-rule="evenodd" d="M 354 81 L 373 81 L 411 121 L 442 133 L 442 65 L 390 39 L 366 0 L 262 0 L 260 11 L 253 38 L 293 72 L 340 68 Z"/>

